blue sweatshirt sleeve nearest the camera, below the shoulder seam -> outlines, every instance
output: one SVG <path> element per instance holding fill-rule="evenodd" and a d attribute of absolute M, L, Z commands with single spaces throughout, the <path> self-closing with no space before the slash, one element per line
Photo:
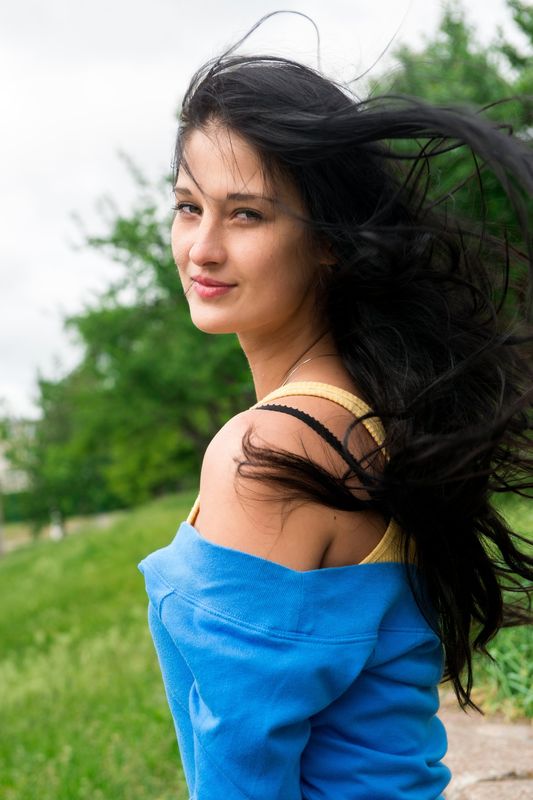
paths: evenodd
<path fill-rule="evenodd" d="M 179 701 L 183 678 L 172 681 L 180 655 L 190 670 L 182 702 L 193 735 L 193 796 L 300 800 L 310 717 L 354 680 L 374 639 L 338 647 L 243 624 L 176 594 L 164 599 L 160 620 L 175 648 L 160 650 L 168 695 Z"/>

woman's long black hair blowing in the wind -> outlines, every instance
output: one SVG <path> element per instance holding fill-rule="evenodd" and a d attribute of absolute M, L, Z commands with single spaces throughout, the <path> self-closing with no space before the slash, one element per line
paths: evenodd
<path fill-rule="evenodd" d="M 414 543 L 424 589 L 413 588 L 441 637 L 445 677 L 463 707 L 475 706 L 473 651 L 486 652 L 500 627 L 529 618 L 531 550 L 492 499 L 527 496 L 533 487 L 533 153 L 474 110 L 409 97 L 361 102 L 318 71 L 273 56 L 230 52 L 194 75 L 176 172 L 187 136 L 213 122 L 248 141 L 266 175 L 293 182 L 310 233 L 329 242 L 336 263 L 324 314 L 346 369 L 384 425 L 388 456 L 378 474 L 365 470 L 377 451 L 350 454 L 350 426 L 350 471 L 340 479 L 308 459 L 255 446 L 248 431 L 238 473 L 268 481 L 288 499 L 394 518 L 406 560 Z M 454 192 L 435 190 L 439 159 L 454 149 L 473 156 L 477 221 L 454 218 Z M 514 210 L 513 230 L 498 232 L 498 220 L 486 215 L 487 171 Z M 367 499 L 350 489 L 354 477 Z"/>

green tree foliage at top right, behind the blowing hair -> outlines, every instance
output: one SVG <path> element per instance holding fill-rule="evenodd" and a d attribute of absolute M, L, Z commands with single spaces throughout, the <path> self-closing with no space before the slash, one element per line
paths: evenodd
<path fill-rule="evenodd" d="M 521 4 L 513 0 L 510 5 Z M 396 58 L 400 68 L 374 81 L 372 92 L 420 97 L 442 106 L 465 106 L 508 131 L 528 136 L 533 124 L 531 59 L 510 74 L 502 58 L 504 50 L 503 42 L 488 48 L 480 45 L 462 7 L 450 2 L 436 36 L 426 41 L 422 50 L 399 48 Z M 399 147 L 413 149 L 412 143 L 402 142 Z M 428 194 L 433 200 L 446 199 L 446 207 L 440 206 L 443 214 L 473 222 L 475 230 L 483 213 L 487 230 L 500 236 L 505 231 L 510 241 L 523 244 L 515 210 L 502 186 L 470 150 L 459 147 L 432 157 L 431 162 Z M 457 187 L 462 188 L 457 191 Z"/>

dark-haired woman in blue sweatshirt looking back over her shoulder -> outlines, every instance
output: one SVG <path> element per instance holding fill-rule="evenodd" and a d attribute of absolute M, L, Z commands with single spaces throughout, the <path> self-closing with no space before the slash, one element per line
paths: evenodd
<path fill-rule="evenodd" d="M 452 145 L 524 222 L 531 151 L 480 115 L 277 57 L 185 95 L 173 254 L 258 400 L 139 565 L 191 800 L 441 798 L 437 686 L 473 705 L 473 650 L 520 618 L 533 561 L 491 496 L 531 486 L 527 258 L 424 191 Z"/>

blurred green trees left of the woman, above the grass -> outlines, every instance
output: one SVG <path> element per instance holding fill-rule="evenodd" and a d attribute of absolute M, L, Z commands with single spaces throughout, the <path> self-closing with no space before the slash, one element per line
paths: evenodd
<path fill-rule="evenodd" d="M 107 201 L 109 233 L 87 237 L 124 273 L 66 322 L 81 363 L 39 381 L 42 418 L 17 458 L 37 523 L 52 509 L 84 514 L 190 486 L 214 432 L 254 400 L 236 338 L 190 322 L 160 206 L 145 192 L 125 218 Z"/>

